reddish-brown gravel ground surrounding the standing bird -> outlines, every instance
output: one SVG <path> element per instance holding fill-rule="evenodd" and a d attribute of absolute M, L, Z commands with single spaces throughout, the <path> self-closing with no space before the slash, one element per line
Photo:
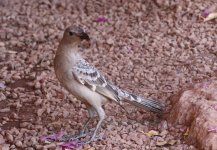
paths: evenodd
<path fill-rule="evenodd" d="M 215 0 L 1 0 L 1 149 L 61 149 L 60 142 L 40 137 L 76 134 L 86 121 L 85 106 L 53 71 L 58 42 L 72 24 L 87 29 L 92 45 L 84 56 L 108 79 L 167 106 L 156 117 L 108 104 L 104 140 L 76 149 L 200 149 L 186 140 L 189 124 L 171 124 L 167 116 L 176 112 L 170 111 L 174 94 L 216 78 L 217 20 L 203 22 L 201 16 L 214 5 Z"/>

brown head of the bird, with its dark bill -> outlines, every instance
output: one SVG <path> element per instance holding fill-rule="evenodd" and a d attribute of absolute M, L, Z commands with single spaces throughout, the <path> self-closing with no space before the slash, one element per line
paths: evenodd
<path fill-rule="evenodd" d="M 73 44 L 80 43 L 83 40 L 90 41 L 90 38 L 80 26 L 70 26 L 64 32 L 63 40 L 68 44 Z"/>

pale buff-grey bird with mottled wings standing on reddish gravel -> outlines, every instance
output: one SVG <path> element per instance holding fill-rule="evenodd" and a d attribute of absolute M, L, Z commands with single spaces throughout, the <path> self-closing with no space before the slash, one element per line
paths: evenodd
<path fill-rule="evenodd" d="M 163 113 L 164 104 L 122 90 L 107 80 L 94 65 L 88 63 L 80 52 L 80 45 L 84 40 L 89 42 L 90 37 L 80 25 L 67 27 L 54 57 L 54 70 L 62 86 L 86 105 L 89 119 L 84 124 L 82 133 L 95 114 L 98 115 L 99 120 L 90 141 L 95 140 L 106 118 L 103 106 L 108 102 L 115 102 L 119 105 L 127 102 L 150 112 Z M 85 52 L 85 49 L 82 51 Z"/>

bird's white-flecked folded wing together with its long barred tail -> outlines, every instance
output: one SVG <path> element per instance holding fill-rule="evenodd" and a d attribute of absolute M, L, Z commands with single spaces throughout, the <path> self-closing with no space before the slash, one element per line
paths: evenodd
<path fill-rule="evenodd" d="M 73 67 L 73 75 L 91 90 L 96 91 L 115 102 L 120 103 L 120 101 L 126 101 L 142 109 L 157 113 L 163 111 L 163 105 L 160 102 L 145 99 L 141 96 L 136 96 L 121 90 L 107 81 L 94 66 L 90 65 L 82 58 Z"/>

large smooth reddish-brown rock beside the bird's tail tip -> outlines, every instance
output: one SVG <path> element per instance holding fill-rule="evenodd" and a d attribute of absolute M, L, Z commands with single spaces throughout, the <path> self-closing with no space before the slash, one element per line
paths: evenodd
<path fill-rule="evenodd" d="M 199 149 L 217 150 L 217 81 L 197 84 L 171 101 L 168 120 L 189 126 L 187 140 Z"/>

